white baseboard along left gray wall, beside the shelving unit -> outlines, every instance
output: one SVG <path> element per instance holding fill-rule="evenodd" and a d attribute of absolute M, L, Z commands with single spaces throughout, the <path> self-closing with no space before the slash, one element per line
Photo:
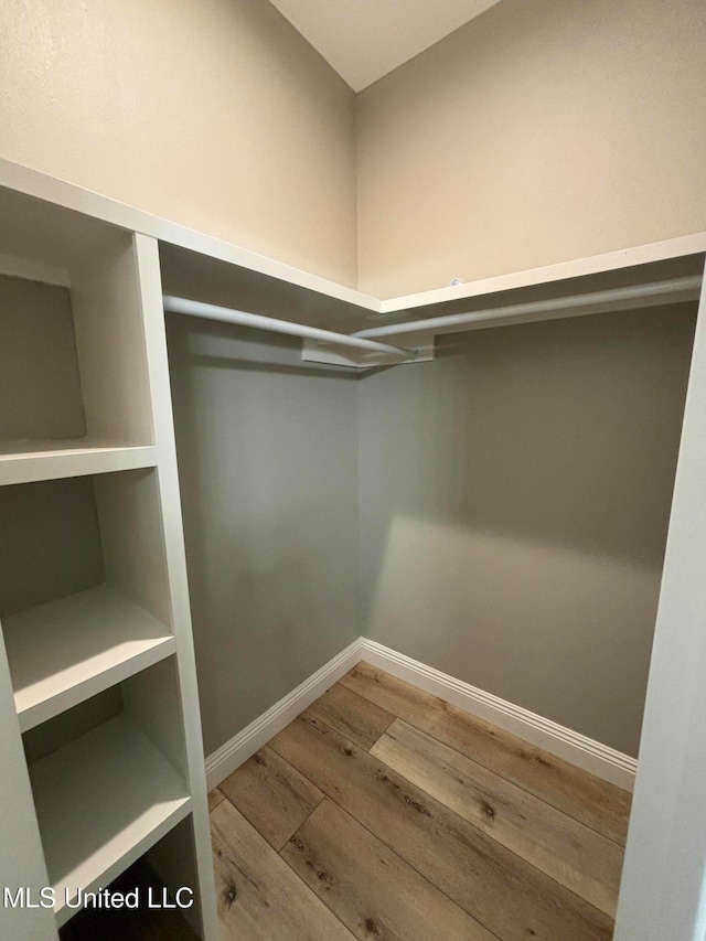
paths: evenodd
<path fill-rule="evenodd" d="M 206 758 L 206 784 L 217 787 L 361 661 L 359 638 Z"/>

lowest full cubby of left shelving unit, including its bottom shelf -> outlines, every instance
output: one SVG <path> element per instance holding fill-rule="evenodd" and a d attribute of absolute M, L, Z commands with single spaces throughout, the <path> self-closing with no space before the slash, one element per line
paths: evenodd
<path fill-rule="evenodd" d="M 24 735 L 60 926 L 190 813 L 176 688 L 170 657 Z"/>

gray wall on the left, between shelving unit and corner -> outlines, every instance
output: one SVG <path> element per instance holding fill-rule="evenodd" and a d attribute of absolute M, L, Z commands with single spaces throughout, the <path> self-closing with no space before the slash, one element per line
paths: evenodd
<path fill-rule="evenodd" d="M 357 379 L 290 338 L 168 340 L 210 753 L 360 634 Z"/>

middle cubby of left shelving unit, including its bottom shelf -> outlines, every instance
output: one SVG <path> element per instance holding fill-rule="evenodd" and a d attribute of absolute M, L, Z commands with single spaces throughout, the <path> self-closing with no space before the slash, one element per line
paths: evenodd
<path fill-rule="evenodd" d="M 173 654 L 156 472 L 0 488 L 0 613 L 22 731 Z"/>

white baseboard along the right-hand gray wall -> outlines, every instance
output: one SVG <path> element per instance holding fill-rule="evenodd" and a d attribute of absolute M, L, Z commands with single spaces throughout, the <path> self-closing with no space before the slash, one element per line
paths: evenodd
<path fill-rule="evenodd" d="M 454 680 L 410 656 L 362 638 L 361 660 L 445 699 L 478 718 L 516 735 L 611 784 L 632 791 L 638 761 L 592 738 L 515 706 L 469 683 Z"/>

